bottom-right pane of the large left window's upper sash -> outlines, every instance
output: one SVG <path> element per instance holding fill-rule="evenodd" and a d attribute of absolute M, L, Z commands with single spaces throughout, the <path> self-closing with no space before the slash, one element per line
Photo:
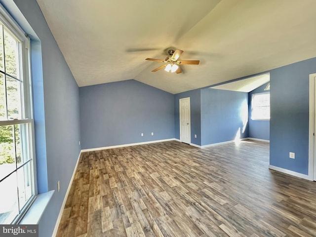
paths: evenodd
<path fill-rule="evenodd" d="M 22 119 L 21 82 L 6 76 L 8 119 Z"/>

